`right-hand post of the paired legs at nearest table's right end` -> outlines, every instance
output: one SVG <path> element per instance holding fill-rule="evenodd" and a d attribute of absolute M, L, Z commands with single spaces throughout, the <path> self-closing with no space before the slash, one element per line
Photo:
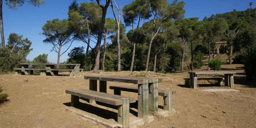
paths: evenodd
<path fill-rule="evenodd" d="M 154 111 L 154 114 L 158 114 L 158 79 L 154 80 L 154 83 L 148 83 L 149 85 L 149 110 Z"/>

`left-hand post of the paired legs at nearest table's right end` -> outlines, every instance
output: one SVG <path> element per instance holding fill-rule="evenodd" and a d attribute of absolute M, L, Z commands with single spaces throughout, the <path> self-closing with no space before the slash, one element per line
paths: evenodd
<path fill-rule="evenodd" d="M 148 121 L 148 79 L 143 79 L 143 84 L 138 84 L 138 117 L 143 122 Z"/>

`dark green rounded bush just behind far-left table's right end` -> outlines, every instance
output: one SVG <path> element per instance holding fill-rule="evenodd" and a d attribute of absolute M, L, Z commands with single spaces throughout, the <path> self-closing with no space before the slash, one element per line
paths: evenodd
<path fill-rule="evenodd" d="M 74 47 L 68 53 L 67 63 L 69 64 L 81 64 L 81 67 L 85 65 L 85 53 L 84 47 Z"/>

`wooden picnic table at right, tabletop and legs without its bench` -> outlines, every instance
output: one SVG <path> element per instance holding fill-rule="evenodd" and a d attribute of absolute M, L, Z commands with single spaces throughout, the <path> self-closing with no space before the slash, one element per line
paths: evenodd
<path fill-rule="evenodd" d="M 225 86 L 234 88 L 234 74 L 236 72 L 228 72 L 228 71 L 217 71 L 217 72 L 188 72 L 189 73 L 189 85 L 190 88 L 197 88 L 197 75 L 205 75 L 205 74 L 224 74 Z"/>

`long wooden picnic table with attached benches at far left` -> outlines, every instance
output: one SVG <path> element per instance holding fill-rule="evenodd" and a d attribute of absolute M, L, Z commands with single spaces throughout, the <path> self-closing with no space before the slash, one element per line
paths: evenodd
<path fill-rule="evenodd" d="M 45 68 L 32 68 L 32 65 L 41 65 Z M 69 65 L 74 68 L 55 68 L 57 65 Z M 83 69 L 80 69 L 81 64 L 48 64 L 48 63 L 20 63 L 20 68 L 14 68 L 15 74 L 27 75 L 34 74 L 34 71 L 40 71 L 41 76 L 58 75 L 59 71 L 69 71 L 70 76 L 79 76 Z"/>

